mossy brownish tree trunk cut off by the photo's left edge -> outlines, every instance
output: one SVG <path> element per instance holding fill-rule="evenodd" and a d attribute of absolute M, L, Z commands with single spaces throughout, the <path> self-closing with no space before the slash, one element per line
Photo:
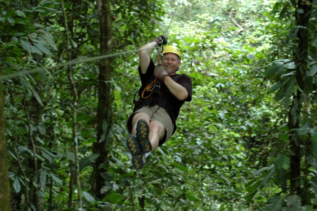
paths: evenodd
<path fill-rule="evenodd" d="M 7 160 L 7 145 L 5 142 L 4 133 L 4 100 L 3 88 L 1 80 L 1 66 L 0 66 L 0 208 L 1 210 L 11 210 L 10 207 L 10 182 L 9 170 Z"/>

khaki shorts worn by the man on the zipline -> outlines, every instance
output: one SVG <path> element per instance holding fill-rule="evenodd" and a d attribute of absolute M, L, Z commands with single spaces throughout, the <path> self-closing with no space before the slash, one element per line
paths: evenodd
<path fill-rule="evenodd" d="M 171 135 L 173 133 L 174 125 L 172 123 L 171 117 L 167 114 L 165 109 L 156 106 L 145 106 L 140 108 L 139 110 L 136 110 L 131 116 L 129 116 L 127 122 L 126 122 L 126 128 L 129 133 L 132 133 L 132 118 L 136 113 L 145 113 L 150 117 L 150 121 L 158 121 L 161 122 L 165 128 L 166 134 L 165 138 L 159 141 L 159 145 L 162 145 L 165 141 L 169 140 L 171 138 Z"/>

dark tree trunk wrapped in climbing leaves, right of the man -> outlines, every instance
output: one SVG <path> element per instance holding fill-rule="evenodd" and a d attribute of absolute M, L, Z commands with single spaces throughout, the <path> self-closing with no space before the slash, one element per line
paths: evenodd
<path fill-rule="evenodd" d="M 311 2 L 311 1 L 310 1 Z M 297 44 L 298 47 L 294 49 L 294 62 L 296 67 L 295 80 L 301 89 L 298 89 L 297 93 L 293 94 L 293 101 L 291 107 L 288 111 L 288 129 L 290 131 L 289 141 L 290 149 L 292 151 L 290 157 L 290 195 L 297 194 L 302 196 L 302 189 L 300 187 L 300 173 L 301 173 L 301 145 L 303 140 L 297 134 L 297 130 L 300 128 L 301 123 L 301 95 L 304 94 L 300 90 L 305 90 L 303 86 L 303 79 L 306 76 L 307 68 L 307 50 L 308 50 L 308 24 L 310 18 L 311 6 L 303 3 L 301 0 L 297 3 L 297 9 L 295 10 L 296 24 L 300 26 L 297 33 Z M 297 11 L 303 11 L 303 13 L 298 13 Z M 302 197 L 303 198 L 303 197 Z M 304 202 L 305 203 L 305 202 Z M 302 202 L 302 206 L 304 206 Z"/>

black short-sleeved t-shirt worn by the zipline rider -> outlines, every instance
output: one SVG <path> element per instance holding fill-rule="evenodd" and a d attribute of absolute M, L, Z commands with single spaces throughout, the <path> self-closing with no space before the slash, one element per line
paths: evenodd
<path fill-rule="evenodd" d="M 154 65 L 152 59 L 150 59 L 150 64 L 149 64 L 145 74 L 142 74 L 140 66 L 138 68 L 140 79 L 141 79 L 141 87 L 139 89 L 139 96 L 140 96 L 141 100 L 142 100 L 141 94 L 142 94 L 143 89 L 148 84 L 150 84 L 152 81 L 154 81 L 154 79 L 155 79 L 154 68 L 155 68 L 155 65 Z M 187 75 L 184 75 L 184 74 L 182 74 L 182 75 L 175 74 L 175 75 L 171 75 L 170 77 L 171 77 L 171 79 L 173 79 L 173 81 L 175 81 L 178 84 L 180 84 L 183 87 L 185 87 L 185 89 L 188 92 L 188 97 L 186 98 L 185 101 L 188 101 L 188 102 L 191 101 L 191 96 L 192 96 L 191 78 L 189 76 L 187 76 Z M 178 100 L 170 92 L 170 90 L 167 88 L 167 86 L 165 85 L 165 83 L 163 81 L 159 80 L 159 82 L 160 82 L 160 88 L 159 89 L 162 92 L 162 94 L 164 95 L 165 100 L 167 101 L 167 103 L 170 105 L 170 108 L 171 108 L 171 111 L 169 109 L 167 112 L 171 116 L 171 120 L 172 120 L 172 123 L 174 125 L 174 132 L 175 132 L 176 119 L 178 117 L 179 110 L 180 110 L 181 106 L 184 104 L 184 101 Z M 154 106 L 154 105 L 159 105 L 159 96 L 158 96 L 158 94 L 153 94 L 153 96 L 152 96 L 152 100 L 151 100 L 150 106 Z M 170 112 L 172 112 L 173 115 L 171 115 Z"/>

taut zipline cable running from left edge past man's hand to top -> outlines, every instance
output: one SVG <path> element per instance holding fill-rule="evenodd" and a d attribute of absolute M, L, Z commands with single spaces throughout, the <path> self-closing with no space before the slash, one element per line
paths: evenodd
<path fill-rule="evenodd" d="M 171 25 L 171 22 L 173 20 L 173 17 L 175 15 L 175 12 L 178 8 L 178 5 L 180 3 L 181 0 L 179 0 L 178 4 L 177 4 L 177 7 L 174 11 L 174 14 L 171 18 L 171 21 L 165 31 L 165 35 Z M 149 50 L 149 49 L 155 49 L 155 48 L 158 48 L 158 47 L 154 47 L 154 48 L 148 48 L 148 49 L 143 49 L 143 50 Z M 73 61 L 70 61 L 70 62 L 65 62 L 65 63 L 59 63 L 59 64 L 56 64 L 55 66 L 51 66 L 51 67 L 36 67 L 34 69 L 30 69 L 30 70 L 23 70 L 23 71 L 19 71 L 19 72 L 16 72 L 16 73 L 9 73 L 9 74 L 6 74 L 6 75 L 3 75 L 3 76 L 0 76 L 0 80 L 7 80 L 7 79 L 11 79 L 11 78 L 15 78 L 15 77 L 18 77 L 18 76 L 24 76 L 24 75 L 27 75 L 27 74 L 33 74 L 33 73 L 36 73 L 36 72 L 40 72 L 40 71 L 43 71 L 43 70 L 51 70 L 51 69 L 58 69 L 58 68 L 61 68 L 61 67 L 64 67 L 64 66 L 67 66 L 67 65 L 74 65 L 74 64 L 79 64 L 79 63 L 86 63 L 86 62 L 92 62 L 92 61 L 95 61 L 95 60 L 100 60 L 100 59 L 106 59 L 106 58 L 109 58 L 109 57 L 114 57 L 114 56 L 120 56 L 120 55 L 125 55 L 125 54 L 130 54 L 130 53 L 134 53 L 134 52 L 138 52 L 140 49 L 137 49 L 137 50 L 129 50 L 129 51 L 121 51 L 121 52 L 118 52 L 118 53 L 113 53 L 113 54 L 107 54 L 107 55 L 102 55 L 102 56 L 94 56 L 94 57 L 90 57 L 90 58 L 87 58 L 87 59 L 75 59 Z"/>

